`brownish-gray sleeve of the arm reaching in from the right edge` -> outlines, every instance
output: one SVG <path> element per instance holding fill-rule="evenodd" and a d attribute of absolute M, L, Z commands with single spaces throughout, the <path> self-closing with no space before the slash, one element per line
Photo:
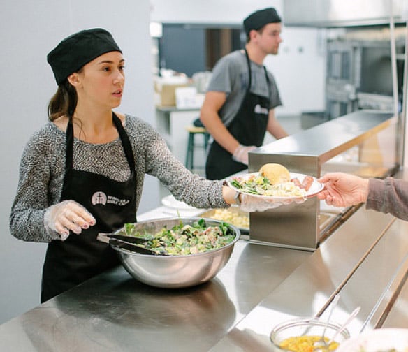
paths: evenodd
<path fill-rule="evenodd" d="M 370 179 L 367 209 L 408 220 L 408 182 L 402 179 Z"/>

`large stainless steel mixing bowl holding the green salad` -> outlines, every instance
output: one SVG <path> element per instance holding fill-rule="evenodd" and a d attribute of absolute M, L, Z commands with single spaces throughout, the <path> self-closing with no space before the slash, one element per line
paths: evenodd
<path fill-rule="evenodd" d="M 157 219 L 135 223 L 136 230 L 143 233 L 156 233 L 166 226 L 172 228 L 182 221 L 184 225 L 191 225 L 199 217 Z M 207 226 L 218 226 L 221 221 L 205 219 Z M 135 279 L 161 288 L 182 288 L 202 284 L 212 279 L 228 262 L 235 242 L 240 239 L 240 230 L 235 226 L 228 226 L 235 235 L 233 242 L 225 247 L 199 254 L 187 256 L 155 256 L 138 254 L 119 247 L 112 246 L 118 254 L 124 268 Z M 117 230 L 122 233 L 123 228 Z"/>

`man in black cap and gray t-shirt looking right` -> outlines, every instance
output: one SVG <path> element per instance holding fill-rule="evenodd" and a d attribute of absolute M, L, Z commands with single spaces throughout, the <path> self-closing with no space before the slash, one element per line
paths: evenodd
<path fill-rule="evenodd" d="M 275 118 L 275 107 L 282 105 L 275 79 L 263 66 L 282 43 L 281 22 L 275 8 L 249 15 L 244 20 L 245 50 L 227 54 L 214 67 L 200 115 L 213 138 L 207 179 L 245 170 L 248 152 L 263 144 L 266 131 L 277 139 L 288 135 Z"/>

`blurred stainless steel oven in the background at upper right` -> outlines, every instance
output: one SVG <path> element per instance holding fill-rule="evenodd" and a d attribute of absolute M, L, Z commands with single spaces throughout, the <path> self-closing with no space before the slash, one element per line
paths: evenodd
<path fill-rule="evenodd" d="M 367 36 L 369 36 L 367 34 Z M 402 41 L 397 52 L 404 52 Z M 402 103 L 403 60 L 397 61 L 397 89 Z M 357 109 L 393 111 L 391 43 L 388 40 L 328 41 L 326 115 L 333 119 Z"/>

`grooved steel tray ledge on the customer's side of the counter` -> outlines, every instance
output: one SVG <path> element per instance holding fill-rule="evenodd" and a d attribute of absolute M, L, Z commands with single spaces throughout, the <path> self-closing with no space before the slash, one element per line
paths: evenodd
<path fill-rule="evenodd" d="M 275 325 L 324 316 L 337 293 L 333 320 L 341 323 L 362 307 L 349 325 L 351 336 L 381 325 L 407 328 L 407 233 L 407 222 L 361 207 L 210 351 L 270 351 Z"/>

